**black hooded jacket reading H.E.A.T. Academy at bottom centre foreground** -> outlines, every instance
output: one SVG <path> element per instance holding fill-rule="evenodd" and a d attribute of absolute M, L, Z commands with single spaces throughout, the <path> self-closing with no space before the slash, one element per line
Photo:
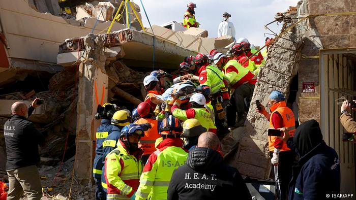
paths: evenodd
<path fill-rule="evenodd" d="M 186 164 L 173 172 L 167 199 L 251 199 L 239 171 L 222 160 L 213 149 L 192 149 Z"/>

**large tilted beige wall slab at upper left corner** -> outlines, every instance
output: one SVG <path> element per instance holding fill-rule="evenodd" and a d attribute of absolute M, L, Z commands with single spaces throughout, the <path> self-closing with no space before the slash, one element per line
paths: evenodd
<path fill-rule="evenodd" d="M 58 45 L 67 38 L 89 34 L 96 22 L 96 19 L 89 18 L 81 24 L 72 19 L 66 20 L 49 13 L 39 13 L 22 0 L 0 1 L 0 8 L 10 62 L 17 58 L 56 63 Z M 94 33 L 105 31 L 110 23 L 99 22 Z M 115 23 L 112 30 L 123 28 L 124 25 Z"/>

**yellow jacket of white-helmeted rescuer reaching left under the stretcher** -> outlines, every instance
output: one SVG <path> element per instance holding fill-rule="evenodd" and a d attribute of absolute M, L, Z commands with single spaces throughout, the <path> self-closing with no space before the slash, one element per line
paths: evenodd
<path fill-rule="evenodd" d="M 206 108 L 190 108 L 188 110 L 179 109 L 177 106 L 172 106 L 172 115 L 179 120 L 185 121 L 187 119 L 197 119 L 201 126 L 206 130 L 216 132 L 214 120 L 211 118 L 211 113 Z"/>

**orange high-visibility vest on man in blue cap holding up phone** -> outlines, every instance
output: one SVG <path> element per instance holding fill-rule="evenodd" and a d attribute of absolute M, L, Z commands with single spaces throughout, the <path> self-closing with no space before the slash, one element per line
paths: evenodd
<path fill-rule="evenodd" d="M 295 132 L 295 119 L 294 119 L 294 114 L 293 111 L 290 110 L 290 108 L 287 107 L 286 102 L 282 101 L 282 102 L 278 102 L 277 104 L 273 105 L 271 107 L 271 117 L 270 117 L 270 128 L 274 128 L 273 127 L 273 121 L 272 121 L 272 115 L 275 112 L 278 112 L 283 119 L 283 127 L 288 129 L 288 133 L 290 137 L 294 136 L 294 132 Z M 269 136 L 269 149 L 270 151 L 274 151 L 275 150 L 275 141 L 276 141 L 276 136 Z M 290 151 L 290 149 L 287 147 L 287 144 L 285 142 L 283 142 L 283 146 L 281 151 Z"/>

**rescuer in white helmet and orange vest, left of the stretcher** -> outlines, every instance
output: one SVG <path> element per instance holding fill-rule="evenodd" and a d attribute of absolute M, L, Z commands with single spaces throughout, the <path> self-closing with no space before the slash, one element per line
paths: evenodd
<path fill-rule="evenodd" d="M 163 100 L 158 97 L 158 95 L 162 94 L 159 80 L 152 75 L 146 76 L 143 79 L 143 86 L 147 92 L 144 101 L 151 105 L 152 110 L 155 110 L 157 105 L 163 103 Z"/>

